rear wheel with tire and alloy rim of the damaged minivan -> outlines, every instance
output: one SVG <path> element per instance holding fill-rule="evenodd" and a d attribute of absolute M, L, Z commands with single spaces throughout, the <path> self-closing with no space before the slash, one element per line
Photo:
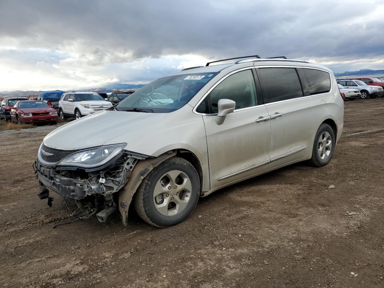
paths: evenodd
<path fill-rule="evenodd" d="M 334 132 L 328 124 L 321 124 L 313 142 L 312 157 L 309 163 L 315 167 L 326 166 L 331 161 L 336 145 Z"/>

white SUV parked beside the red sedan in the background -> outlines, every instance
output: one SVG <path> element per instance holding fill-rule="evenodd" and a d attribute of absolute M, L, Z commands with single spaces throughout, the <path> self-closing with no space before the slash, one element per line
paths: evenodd
<path fill-rule="evenodd" d="M 105 101 L 98 93 L 94 92 L 66 92 L 59 101 L 59 116 L 61 119 L 74 117 L 79 119 L 107 108 L 112 103 Z"/>

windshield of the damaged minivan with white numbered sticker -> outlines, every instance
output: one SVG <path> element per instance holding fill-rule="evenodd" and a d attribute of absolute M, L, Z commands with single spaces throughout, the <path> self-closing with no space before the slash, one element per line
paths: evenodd
<path fill-rule="evenodd" d="M 159 78 L 132 93 L 115 108 L 119 111 L 149 109 L 154 113 L 176 111 L 187 104 L 217 73 L 179 74 Z"/>

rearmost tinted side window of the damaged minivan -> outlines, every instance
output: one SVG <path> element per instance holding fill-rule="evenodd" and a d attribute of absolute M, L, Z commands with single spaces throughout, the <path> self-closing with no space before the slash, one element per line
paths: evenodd
<path fill-rule="evenodd" d="M 314 69 L 301 69 L 301 71 L 307 83 L 306 89 L 308 89 L 310 95 L 329 92 L 331 89 L 329 73 Z"/>

